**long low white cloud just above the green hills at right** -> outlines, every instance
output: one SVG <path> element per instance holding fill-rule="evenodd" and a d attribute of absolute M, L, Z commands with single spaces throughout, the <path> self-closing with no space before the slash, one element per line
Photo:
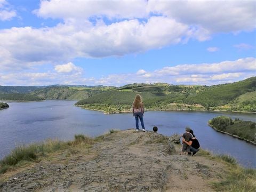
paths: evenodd
<path fill-rule="evenodd" d="M 243 58 L 219 63 L 199 63 L 164 67 L 155 71 L 138 70 L 136 74 L 113 74 L 102 77 L 97 83 L 121 86 L 130 83 L 157 83 L 187 85 L 214 85 L 241 81 L 255 76 L 256 59 Z M 96 84 L 97 84 L 96 83 Z"/>

